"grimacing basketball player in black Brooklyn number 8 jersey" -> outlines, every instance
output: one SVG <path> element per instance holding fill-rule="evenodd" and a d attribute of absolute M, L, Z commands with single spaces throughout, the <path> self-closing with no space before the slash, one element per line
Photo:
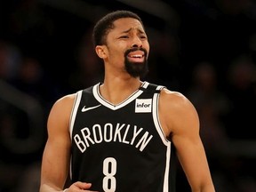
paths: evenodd
<path fill-rule="evenodd" d="M 104 81 L 53 105 L 40 192 L 174 191 L 174 148 L 191 190 L 214 192 L 196 109 L 181 93 L 140 80 L 149 53 L 140 17 L 111 12 L 93 40 Z"/>

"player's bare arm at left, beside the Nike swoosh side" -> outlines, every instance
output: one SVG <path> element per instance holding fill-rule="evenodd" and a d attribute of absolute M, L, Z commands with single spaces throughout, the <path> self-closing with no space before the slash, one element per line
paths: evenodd
<path fill-rule="evenodd" d="M 57 100 L 48 117 L 40 192 L 62 191 L 67 179 L 70 158 L 68 124 L 74 97 L 69 95 Z"/>

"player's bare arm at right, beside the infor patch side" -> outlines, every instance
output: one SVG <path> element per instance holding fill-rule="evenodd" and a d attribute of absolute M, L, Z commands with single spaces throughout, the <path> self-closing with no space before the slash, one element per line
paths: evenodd
<path fill-rule="evenodd" d="M 204 146 L 199 135 L 199 119 L 192 103 L 179 92 L 164 90 L 160 100 L 160 120 L 171 135 L 180 164 L 193 192 L 214 192 Z"/>

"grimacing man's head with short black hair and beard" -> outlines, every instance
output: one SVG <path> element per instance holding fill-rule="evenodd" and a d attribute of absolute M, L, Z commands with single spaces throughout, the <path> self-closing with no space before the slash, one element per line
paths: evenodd
<path fill-rule="evenodd" d="M 148 72 L 148 37 L 136 13 L 108 13 L 96 23 L 92 37 L 97 54 L 108 67 L 122 67 L 133 77 Z"/>

